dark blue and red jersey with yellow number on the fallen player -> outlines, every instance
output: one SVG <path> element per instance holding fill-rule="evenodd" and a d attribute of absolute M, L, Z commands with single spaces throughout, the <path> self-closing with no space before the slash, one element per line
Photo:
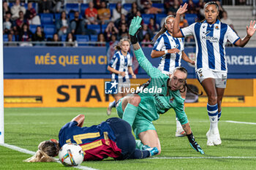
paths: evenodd
<path fill-rule="evenodd" d="M 117 158 L 121 150 L 116 146 L 116 136 L 110 125 L 102 122 L 99 125 L 80 128 L 76 121 L 67 123 L 59 131 L 59 144 L 77 143 L 84 152 L 84 161 L 96 161 Z"/>

